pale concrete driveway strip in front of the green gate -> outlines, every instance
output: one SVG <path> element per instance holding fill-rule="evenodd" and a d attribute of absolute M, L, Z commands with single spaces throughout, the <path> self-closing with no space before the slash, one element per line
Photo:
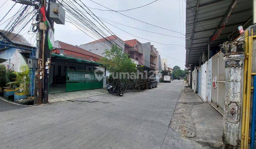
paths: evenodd
<path fill-rule="evenodd" d="M 73 100 L 73 99 L 78 99 L 78 98 L 87 98 L 87 97 L 103 95 L 103 94 L 108 94 L 108 91 L 106 88 L 92 89 L 92 90 L 80 90 L 80 91 L 74 91 L 74 92 L 52 93 L 52 94 L 49 94 L 48 102 L 55 103 L 58 101 L 67 101 L 67 100 Z"/>

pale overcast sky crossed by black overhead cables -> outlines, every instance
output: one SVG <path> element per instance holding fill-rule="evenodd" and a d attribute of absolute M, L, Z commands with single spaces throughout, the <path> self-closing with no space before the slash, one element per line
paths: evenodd
<path fill-rule="evenodd" d="M 0 6 L 4 4 L 6 0 L 0 0 Z M 98 8 L 106 10 L 106 8 L 99 6 L 90 0 L 82 0 L 85 5 L 91 7 L 91 8 Z M 103 6 L 109 7 L 112 10 L 127 10 L 132 9 L 134 7 L 139 7 L 145 4 L 148 4 L 154 0 L 94 0 L 95 2 L 98 2 L 102 4 Z M 14 2 L 11 0 L 8 0 L 1 8 L 0 8 L 0 20 L 4 17 L 4 15 L 10 10 L 10 8 L 14 5 Z M 182 8 L 183 5 L 183 8 Z M 10 13 L 6 16 L 6 18 L 9 18 L 10 16 L 14 15 L 17 12 L 17 9 L 21 6 L 21 4 L 15 5 L 14 9 L 10 11 Z M 186 9 L 185 9 L 185 1 L 183 0 L 158 0 L 153 2 L 150 5 L 144 6 L 139 9 L 134 9 L 130 11 L 124 11 L 121 12 L 124 15 L 136 18 L 138 20 L 148 22 L 150 24 L 154 24 L 156 26 L 160 26 L 163 28 L 167 28 L 173 31 L 181 32 L 185 34 L 185 22 L 186 22 Z M 148 24 L 130 19 L 128 17 L 125 17 L 123 15 L 118 14 L 117 12 L 113 11 L 100 11 L 100 10 L 91 10 L 95 13 L 96 16 L 106 18 L 108 20 L 126 24 L 128 26 L 133 26 L 136 28 L 144 29 L 146 31 L 151 32 L 158 32 L 162 34 L 168 34 L 168 35 L 174 35 L 180 37 L 181 34 L 167 31 L 165 29 L 157 28 L 154 26 L 150 26 Z M 183 14 L 182 14 L 183 13 Z M 4 19 L 3 21 L 5 21 Z M 2 21 L 2 22 L 3 22 Z M 1 22 L 1 23 L 2 23 Z M 0 23 L 0 24 L 1 24 Z M 104 22 L 105 23 L 105 22 Z M 137 39 L 141 43 L 149 42 L 149 39 L 155 42 L 164 43 L 164 44 L 178 44 L 183 45 L 185 44 L 185 39 L 176 38 L 176 37 L 169 37 L 165 35 L 159 35 L 154 33 L 149 33 L 145 31 L 140 31 L 138 29 L 126 27 L 120 24 L 116 24 L 113 22 L 109 22 L 113 24 L 114 26 L 117 26 L 121 29 L 123 29 L 126 32 L 129 32 L 137 37 L 134 37 L 133 35 L 130 35 L 126 32 L 123 32 L 107 23 L 105 25 L 119 38 L 123 40 L 130 40 L 130 39 Z M 25 28 L 24 31 L 22 31 L 23 36 L 28 39 L 31 43 L 33 43 L 35 36 L 32 38 L 32 32 L 28 33 L 30 24 L 28 24 L 28 28 Z M 5 24 L 0 25 L 0 29 L 4 29 Z M 65 25 L 60 24 L 54 24 L 55 28 L 55 40 L 60 40 L 69 44 L 73 45 L 80 45 L 89 43 L 91 41 L 94 41 L 91 37 L 87 36 L 85 33 L 81 32 L 78 28 L 76 28 L 74 25 L 72 25 L 69 22 L 65 22 Z M 17 31 L 15 31 L 17 32 Z M 145 39 L 140 39 L 145 38 Z M 182 37 L 184 37 L 182 35 Z M 176 45 L 162 45 L 158 43 L 151 42 L 151 45 L 154 45 L 155 48 L 159 51 L 161 58 L 167 58 L 168 59 L 168 65 L 169 67 L 173 68 L 175 65 L 180 66 L 181 68 L 185 68 L 185 53 L 186 50 L 182 46 L 176 46 Z M 180 61 L 177 61 L 175 59 L 178 59 Z"/>

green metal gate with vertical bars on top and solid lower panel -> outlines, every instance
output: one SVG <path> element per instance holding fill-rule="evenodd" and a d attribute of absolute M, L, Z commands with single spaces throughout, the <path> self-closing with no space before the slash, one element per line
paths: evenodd
<path fill-rule="evenodd" d="M 66 71 L 66 92 L 103 88 L 103 73 L 93 71 Z"/>

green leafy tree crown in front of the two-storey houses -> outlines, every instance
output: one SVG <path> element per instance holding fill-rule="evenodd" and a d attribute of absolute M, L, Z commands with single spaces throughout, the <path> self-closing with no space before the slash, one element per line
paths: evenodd
<path fill-rule="evenodd" d="M 110 72 L 136 72 L 137 65 L 132 61 L 128 54 L 112 45 L 111 49 L 105 49 L 105 57 L 101 59 L 102 67 L 106 67 Z"/>

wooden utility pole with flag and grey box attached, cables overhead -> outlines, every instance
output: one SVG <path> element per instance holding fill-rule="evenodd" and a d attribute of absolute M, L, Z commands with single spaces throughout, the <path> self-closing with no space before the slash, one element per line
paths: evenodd
<path fill-rule="evenodd" d="M 34 3 L 31 0 L 12 0 L 23 5 L 35 6 L 39 9 L 37 16 L 37 46 L 38 46 L 38 67 L 35 81 L 34 90 L 34 104 L 47 104 L 48 93 L 49 93 L 49 73 L 50 73 L 50 50 L 54 46 L 54 32 L 53 32 L 53 20 L 50 19 L 50 2 L 56 2 L 56 0 L 40 0 L 38 3 Z M 48 8 L 46 11 L 46 2 L 48 2 Z M 64 24 L 65 22 L 65 11 L 59 5 L 55 4 L 52 10 L 55 14 L 53 15 L 57 24 Z M 60 13 L 60 15 L 59 15 Z M 56 15 L 57 14 L 57 15 Z M 64 16 L 64 18 L 63 18 Z M 35 31 L 36 32 L 36 31 Z M 50 42 L 50 44 L 48 43 Z M 49 49 L 50 48 L 50 49 Z"/>

